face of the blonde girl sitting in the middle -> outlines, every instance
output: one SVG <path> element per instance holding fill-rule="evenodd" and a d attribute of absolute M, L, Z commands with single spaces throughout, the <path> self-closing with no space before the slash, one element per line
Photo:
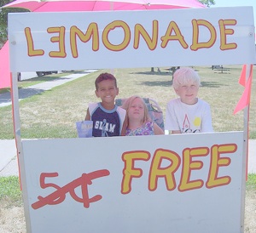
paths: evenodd
<path fill-rule="evenodd" d="M 143 121 L 144 111 L 145 109 L 142 100 L 139 98 L 133 99 L 128 109 L 129 120 Z"/>

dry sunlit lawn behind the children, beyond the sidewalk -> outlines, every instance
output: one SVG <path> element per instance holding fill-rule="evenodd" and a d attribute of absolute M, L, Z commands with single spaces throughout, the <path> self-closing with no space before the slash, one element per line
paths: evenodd
<path fill-rule="evenodd" d="M 229 71 L 214 71 L 210 66 L 194 67 L 201 77 L 199 97 L 212 107 L 212 123 L 216 132 L 243 130 L 243 111 L 236 115 L 233 111 L 241 98 L 244 88 L 238 84 L 241 65 L 226 65 Z M 255 67 L 253 68 L 255 72 Z M 164 117 L 166 103 L 176 98 L 172 89 L 172 73 L 161 67 L 161 72 L 151 72 L 151 68 L 117 69 L 109 71 L 117 77 L 119 98 L 132 94 L 150 97 L 158 101 Z M 94 82 L 104 71 L 96 71 L 88 76 L 68 82 L 42 94 L 20 101 L 21 138 L 73 138 L 77 137 L 75 122 L 84 119 L 89 102 L 98 101 Z M 38 80 L 38 78 L 40 80 Z M 20 88 L 42 82 L 42 77 L 19 82 Z M 48 77 L 48 79 L 58 77 Z M 249 133 L 256 139 L 256 93 L 253 80 Z M 3 90 L 2 90 L 3 91 Z M 13 139 L 12 108 L 0 108 L 0 139 Z"/>

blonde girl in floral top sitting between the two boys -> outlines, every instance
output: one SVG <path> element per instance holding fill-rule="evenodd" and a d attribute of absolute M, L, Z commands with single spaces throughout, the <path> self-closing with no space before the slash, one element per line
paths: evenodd
<path fill-rule="evenodd" d="M 164 131 L 152 122 L 148 108 L 141 97 L 131 96 L 125 100 L 122 107 L 127 112 L 126 136 L 164 134 Z"/>

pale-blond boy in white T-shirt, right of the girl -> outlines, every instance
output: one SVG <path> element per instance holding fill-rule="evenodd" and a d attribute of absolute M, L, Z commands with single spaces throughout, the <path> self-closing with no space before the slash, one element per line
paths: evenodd
<path fill-rule="evenodd" d="M 213 132 L 210 105 L 197 98 L 200 85 L 200 77 L 189 67 L 174 73 L 172 86 L 179 98 L 168 102 L 165 124 L 172 134 Z"/>

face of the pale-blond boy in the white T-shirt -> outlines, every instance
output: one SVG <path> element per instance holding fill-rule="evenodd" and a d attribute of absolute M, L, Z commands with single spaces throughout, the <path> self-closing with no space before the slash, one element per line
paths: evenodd
<path fill-rule="evenodd" d="M 180 99 L 184 104 L 194 105 L 197 102 L 199 86 L 196 82 L 189 82 L 186 84 L 181 84 L 175 92 L 180 96 Z"/>

